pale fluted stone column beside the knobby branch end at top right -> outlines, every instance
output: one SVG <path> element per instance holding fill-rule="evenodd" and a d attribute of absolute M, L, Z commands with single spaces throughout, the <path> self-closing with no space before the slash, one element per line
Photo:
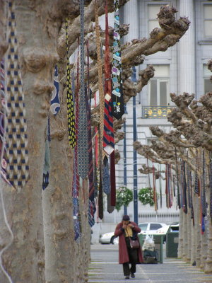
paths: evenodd
<path fill-rule="evenodd" d="M 194 1 L 179 1 L 179 16 L 187 16 L 191 22 L 189 30 L 179 40 L 178 49 L 178 93 L 196 93 L 195 81 L 195 37 L 194 37 Z"/>

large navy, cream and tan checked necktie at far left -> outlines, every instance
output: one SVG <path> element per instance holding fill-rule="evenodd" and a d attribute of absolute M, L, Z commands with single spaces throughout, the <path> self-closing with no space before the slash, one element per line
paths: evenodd
<path fill-rule="evenodd" d="M 28 139 L 26 134 L 25 103 L 18 63 L 18 43 L 13 2 L 8 2 L 8 52 L 6 76 L 7 128 L 6 159 L 7 178 L 20 190 L 29 179 Z"/>

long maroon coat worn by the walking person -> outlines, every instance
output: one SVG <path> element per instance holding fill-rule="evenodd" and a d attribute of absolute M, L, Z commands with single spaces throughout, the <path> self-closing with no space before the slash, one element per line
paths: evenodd
<path fill-rule="evenodd" d="M 139 226 L 133 222 L 130 221 L 131 224 L 133 224 L 134 228 L 132 229 L 133 231 L 135 231 L 136 233 L 141 232 L 141 229 L 139 228 Z M 125 235 L 124 235 L 124 231 L 122 231 L 122 222 L 119 223 L 117 225 L 117 228 L 114 231 L 114 236 L 119 236 L 119 263 L 124 263 L 124 262 L 129 262 L 129 255 L 127 253 L 127 248 L 126 248 L 126 241 L 125 241 Z M 140 248 L 138 248 L 138 253 L 139 253 L 139 262 L 141 263 L 143 262 L 143 258 L 142 258 L 142 253 L 141 253 L 141 246 Z"/>

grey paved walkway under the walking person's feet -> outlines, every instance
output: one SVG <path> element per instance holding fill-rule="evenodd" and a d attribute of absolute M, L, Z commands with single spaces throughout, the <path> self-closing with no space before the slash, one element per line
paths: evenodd
<path fill-rule="evenodd" d="M 136 265 L 136 278 L 125 279 L 122 265 L 118 263 L 115 245 L 91 245 L 89 283 L 141 282 L 141 283 L 212 283 L 212 274 L 206 275 L 198 268 L 175 258 L 165 258 L 163 264 Z"/>

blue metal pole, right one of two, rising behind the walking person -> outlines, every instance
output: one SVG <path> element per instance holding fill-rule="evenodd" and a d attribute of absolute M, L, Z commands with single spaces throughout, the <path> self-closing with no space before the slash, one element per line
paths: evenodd
<path fill-rule="evenodd" d="M 136 68 L 132 68 L 131 81 L 136 82 Z M 137 140 L 137 125 L 136 125 L 136 96 L 133 97 L 133 129 L 134 141 Z M 134 222 L 138 224 L 138 174 L 137 174 L 137 151 L 134 150 Z"/>

